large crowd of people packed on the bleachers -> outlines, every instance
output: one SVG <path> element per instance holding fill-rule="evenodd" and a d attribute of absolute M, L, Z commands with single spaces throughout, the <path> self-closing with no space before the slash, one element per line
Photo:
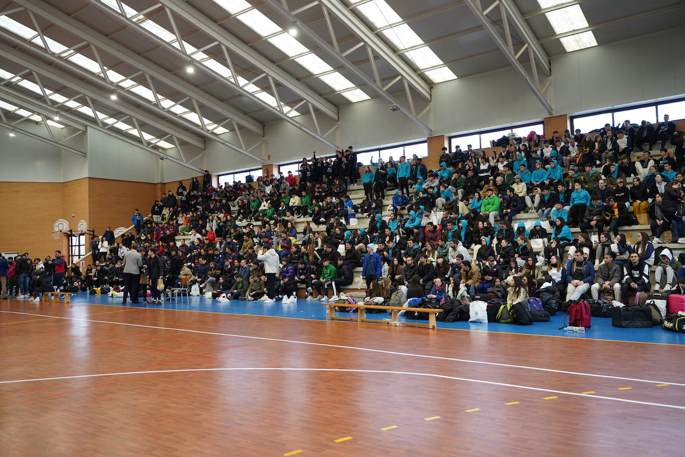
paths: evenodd
<path fill-rule="evenodd" d="M 667 141 L 682 147 L 679 138 L 666 117 L 656 127 L 512 135 L 489 153 L 444 148 L 437 169 L 416 156 L 364 166 L 350 147 L 303 159 L 299 177 L 215 186 L 207 172 L 190 189 L 179 182 L 164 193 L 147 216 L 136 210 L 121 243 L 107 231 L 92 238 L 93 263 L 79 284 L 121 286 L 125 253 L 138 249 L 148 278 L 160 262 L 153 256 L 161 259 L 163 291 L 186 278 L 227 299 L 294 301 L 301 286 L 306 299 L 336 300 L 366 286 L 421 297 L 626 301 L 685 278 L 683 259 L 658 246 L 664 234 L 685 243 L 683 164 L 666 149 Z M 364 196 L 353 200 L 358 181 Z M 627 243 L 621 228 L 638 223 L 651 236 Z"/>

